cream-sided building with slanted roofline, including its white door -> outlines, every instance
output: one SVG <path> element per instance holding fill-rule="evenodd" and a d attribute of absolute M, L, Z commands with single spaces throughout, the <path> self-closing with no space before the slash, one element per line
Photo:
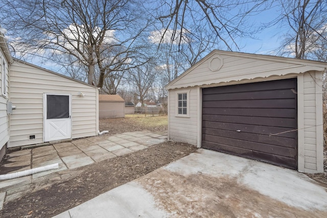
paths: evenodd
<path fill-rule="evenodd" d="M 10 66 L 8 148 L 98 134 L 98 89 L 15 60 Z"/>

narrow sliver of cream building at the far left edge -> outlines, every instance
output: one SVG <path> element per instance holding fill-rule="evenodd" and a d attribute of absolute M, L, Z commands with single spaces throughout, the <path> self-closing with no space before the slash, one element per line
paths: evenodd
<path fill-rule="evenodd" d="M 1 27 L 1 26 L 0 26 Z M 4 35 L 0 33 L 0 160 L 6 154 L 9 140 L 9 65 L 12 62 Z"/>

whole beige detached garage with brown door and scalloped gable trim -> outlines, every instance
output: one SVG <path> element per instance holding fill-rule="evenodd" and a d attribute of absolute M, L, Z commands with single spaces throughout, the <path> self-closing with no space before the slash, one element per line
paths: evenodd
<path fill-rule="evenodd" d="M 171 140 L 323 172 L 327 63 L 215 50 L 169 83 Z"/>

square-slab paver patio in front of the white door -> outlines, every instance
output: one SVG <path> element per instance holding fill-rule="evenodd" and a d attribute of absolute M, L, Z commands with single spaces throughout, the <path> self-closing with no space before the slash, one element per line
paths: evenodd
<path fill-rule="evenodd" d="M 146 149 L 152 144 L 166 140 L 166 135 L 139 131 L 87 137 L 71 142 L 14 151 L 8 154 L 9 161 L 6 165 L 0 164 L 0 172 L 1 167 L 14 167 L 10 173 L 53 163 L 58 163 L 59 167 L 25 177 L 0 180 L 0 210 L 6 201 L 14 201 L 28 192 L 44 189 L 50 187 L 52 183 L 73 177 L 76 173 L 69 169 Z"/>

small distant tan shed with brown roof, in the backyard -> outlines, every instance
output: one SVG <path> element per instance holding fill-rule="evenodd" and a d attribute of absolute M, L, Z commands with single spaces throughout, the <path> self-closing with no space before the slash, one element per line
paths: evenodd
<path fill-rule="evenodd" d="M 112 118 L 125 116 L 125 100 L 118 94 L 99 94 L 99 117 Z"/>

